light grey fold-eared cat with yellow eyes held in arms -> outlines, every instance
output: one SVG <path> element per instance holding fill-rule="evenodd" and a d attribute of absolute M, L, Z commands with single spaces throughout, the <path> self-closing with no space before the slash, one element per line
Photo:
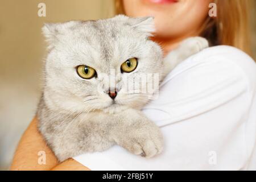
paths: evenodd
<path fill-rule="evenodd" d="M 157 90 L 127 92 L 127 82 L 134 84 L 141 73 L 157 74 L 162 81 L 181 61 L 208 47 L 207 40 L 186 39 L 163 59 L 162 49 L 150 39 L 152 17 L 47 23 L 42 30 L 48 55 L 36 114 L 57 159 L 114 144 L 147 158 L 159 154 L 163 136 L 141 111 Z"/>

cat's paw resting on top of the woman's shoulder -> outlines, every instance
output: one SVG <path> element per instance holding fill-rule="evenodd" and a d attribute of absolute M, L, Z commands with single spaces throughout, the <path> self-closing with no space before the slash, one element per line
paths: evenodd
<path fill-rule="evenodd" d="M 190 51 L 191 55 L 200 52 L 207 47 L 209 47 L 208 40 L 200 36 L 185 39 L 180 44 L 180 48 Z"/>

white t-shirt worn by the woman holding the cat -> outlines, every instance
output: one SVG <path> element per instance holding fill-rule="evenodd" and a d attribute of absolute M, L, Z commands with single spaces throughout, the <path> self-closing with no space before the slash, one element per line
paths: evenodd
<path fill-rule="evenodd" d="M 239 49 L 216 46 L 189 57 L 143 109 L 164 135 L 150 158 L 120 146 L 76 156 L 92 170 L 256 169 L 256 64 Z"/>

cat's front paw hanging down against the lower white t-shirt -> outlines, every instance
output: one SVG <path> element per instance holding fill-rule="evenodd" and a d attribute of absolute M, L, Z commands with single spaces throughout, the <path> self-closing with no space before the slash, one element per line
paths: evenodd
<path fill-rule="evenodd" d="M 122 140 L 121 146 L 135 155 L 151 158 L 163 150 L 163 136 L 157 126 L 135 129 Z"/>

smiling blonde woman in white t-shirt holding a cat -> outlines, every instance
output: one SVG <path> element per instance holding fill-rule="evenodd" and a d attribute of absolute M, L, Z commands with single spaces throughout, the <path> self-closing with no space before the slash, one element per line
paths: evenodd
<path fill-rule="evenodd" d="M 178 65 L 162 84 L 158 100 L 143 109 L 161 127 L 162 154 L 144 159 L 114 146 L 59 164 L 38 133 L 35 118 L 11 169 L 256 169 L 256 65 L 242 52 L 250 54 L 249 6 L 243 0 L 215 1 L 217 17 L 209 17 L 210 3 L 116 1 L 118 13 L 155 17 L 153 39 L 165 55 L 190 36 L 204 36 L 213 46 Z M 221 44 L 233 47 L 217 46 Z"/>

